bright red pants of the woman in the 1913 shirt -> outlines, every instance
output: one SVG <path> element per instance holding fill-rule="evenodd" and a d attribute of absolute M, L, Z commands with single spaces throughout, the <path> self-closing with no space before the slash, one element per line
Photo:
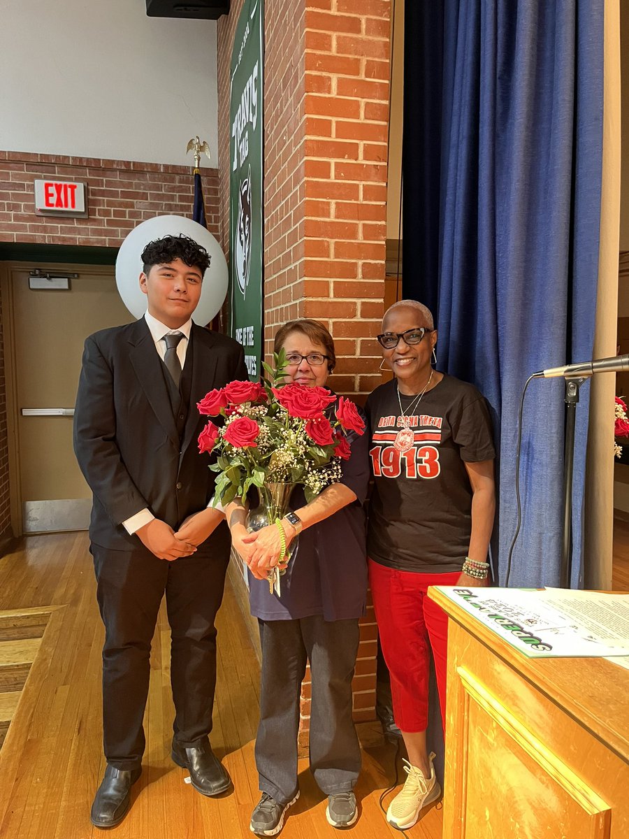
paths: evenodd
<path fill-rule="evenodd" d="M 426 597 L 426 590 L 428 586 L 455 586 L 459 577 L 460 571 L 416 574 L 369 560 L 373 607 L 391 675 L 393 717 L 403 732 L 423 732 L 428 727 L 429 646 L 445 723 L 448 618 Z"/>

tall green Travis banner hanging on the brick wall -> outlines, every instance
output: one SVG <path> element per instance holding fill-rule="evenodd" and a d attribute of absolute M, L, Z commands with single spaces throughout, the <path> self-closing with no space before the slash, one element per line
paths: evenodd
<path fill-rule="evenodd" d="M 245 0 L 231 53 L 231 336 L 249 378 L 263 353 L 263 0 Z"/>

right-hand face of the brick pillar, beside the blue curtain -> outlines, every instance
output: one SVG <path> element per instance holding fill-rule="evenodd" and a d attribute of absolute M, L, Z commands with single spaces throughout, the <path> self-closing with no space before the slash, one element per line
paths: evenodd
<path fill-rule="evenodd" d="M 302 313 L 330 328 L 330 384 L 358 401 L 381 380 L 390 5 L 306 0 Z"/>

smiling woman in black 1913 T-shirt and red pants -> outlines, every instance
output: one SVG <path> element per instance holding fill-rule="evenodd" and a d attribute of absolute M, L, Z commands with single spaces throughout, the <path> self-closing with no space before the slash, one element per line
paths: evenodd
<path fill-rule="evenodd" d="M 428 753 L 429 656 L 445 720 L 448 620 L 428 586 L 486 586 L 494 521 L 495 451 L 485 399 L 434 369 L 437 331 L 417 300 L 393 304 L 377 336 L 394 378 L 366 401 L 374 489 L 369 581 L 407 779 L 387 810 L 399 830 L 439 798 Z"/>

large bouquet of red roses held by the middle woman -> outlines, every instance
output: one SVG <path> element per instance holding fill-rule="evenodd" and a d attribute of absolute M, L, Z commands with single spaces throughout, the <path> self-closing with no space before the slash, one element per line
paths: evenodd
<path fill-rule="evenodd" d="M 300 483 L 306 500 L 339 480 L 340 461 L 350 456 L 347 434 L 363 434 L 365 424 L 350 399 L 337 399 L 327 388 L 283 384 L 286 355 L 273 354 L 264 364 L 262 383 L 231 382 L 197 403 L 209 420 L 199 435 L 200 451 L 216 451 L 215 498 L 226 504 L 244 499 L 251 487 Z"/>

